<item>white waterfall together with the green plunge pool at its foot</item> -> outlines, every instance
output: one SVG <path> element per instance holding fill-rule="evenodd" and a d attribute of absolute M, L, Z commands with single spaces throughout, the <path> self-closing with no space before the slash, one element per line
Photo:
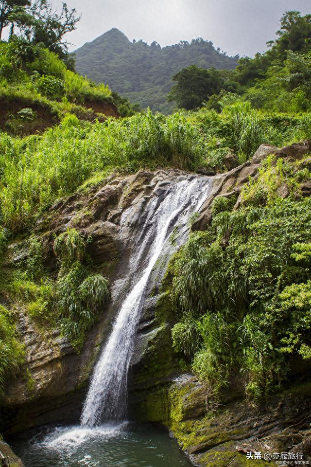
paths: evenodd
<path fill-rule="evenodd" d="M 163 180 L 159 174 L 153 193 L 138 197 L 122 215 L 125 255 L 112 288 L 112 302 L 122 305 L 95 366 L 81 424 L 54 427 L 46 434 L 40 429 L 30 442 L 17 444 L 27 467 L 190 466 L 165 433 L 124 421 L 127 373 L 152 270 L 158 259 L 162 264 L 158 269 L 165 269 L 163 264 L 187 237 L 190 213 L 200 209 L 209 191 L 206 177 L 176 173 L 167 177 Z M 168 241 L 172 233 L 174 242 Z"/>

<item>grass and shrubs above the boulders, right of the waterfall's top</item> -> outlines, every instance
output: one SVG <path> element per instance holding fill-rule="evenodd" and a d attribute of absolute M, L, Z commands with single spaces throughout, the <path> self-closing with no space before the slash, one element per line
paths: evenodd
<path fill-rule="evenodd" d="M 224 158 L 231 150 L 238 162 L 246 162 L 260 144 L 281 147 L 310 138 L 311 114 L 272 113 L 252 108 L 249 102 L 235 102 L 221 113 L 203 107 L 185 112 L 187 120 L 199 128 L 204 164 L 224 171 Z"/>

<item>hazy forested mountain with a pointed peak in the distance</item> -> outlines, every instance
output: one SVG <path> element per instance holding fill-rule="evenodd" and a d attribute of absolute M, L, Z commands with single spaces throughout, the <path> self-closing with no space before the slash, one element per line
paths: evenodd
<path fill-rule="evenodd" d="M 174 107 L 165 97 L 171 90 L 173 74 L 193 64 L 232 70 L 238 59 L 216 50 L 212 42 L 201 37 L 161 48 L 155 41 L 151 45 L 142 40 L 131 42 L 117 28 L 87 42 L 75 54 L 80 74 L 107 83 L 143 108 L 149 106 L 164 113 Z"/>

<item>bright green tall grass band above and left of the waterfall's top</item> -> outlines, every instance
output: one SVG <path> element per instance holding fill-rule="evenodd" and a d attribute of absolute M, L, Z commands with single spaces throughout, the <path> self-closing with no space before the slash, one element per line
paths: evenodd
<path fill-rule="evenodd" d="M 68 115 L 42 137 L 19 141 L 1 134 L 0 147 L 1 223 L 18 232 L 53 199 L 72 193 L 95 172 L 109 167 L 131 172 L 174 162 L 194 167 L 199 136 L 183 117 L 166 120 L 150 111 L 95 125 Z"/>

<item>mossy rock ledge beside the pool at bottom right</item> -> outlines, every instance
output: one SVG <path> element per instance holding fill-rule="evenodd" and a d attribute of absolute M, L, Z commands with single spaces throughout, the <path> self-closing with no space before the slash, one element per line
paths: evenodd
<path fill-rule="evenodd" d="M 242 387 L 241 381 L 236 383 Z M 242 400 L 234 385 L 223 394 L 219 406 L 209 406 L 208 389 L 191 375 L 183 375 L 167 396 L 166 423 L 195 465 L 268 466 L 270 462 L 263 461 L 266 452 L 287 452 L 300 442 L 304 431 L 308 433 L 310 384 L 268 396 L 258 406 Z M 293 451 L 305 452 L 307 460 L 310 442 L 302 444 Z M 262 461 L 250 464 L 247 450 L 260 451 Z"/>

